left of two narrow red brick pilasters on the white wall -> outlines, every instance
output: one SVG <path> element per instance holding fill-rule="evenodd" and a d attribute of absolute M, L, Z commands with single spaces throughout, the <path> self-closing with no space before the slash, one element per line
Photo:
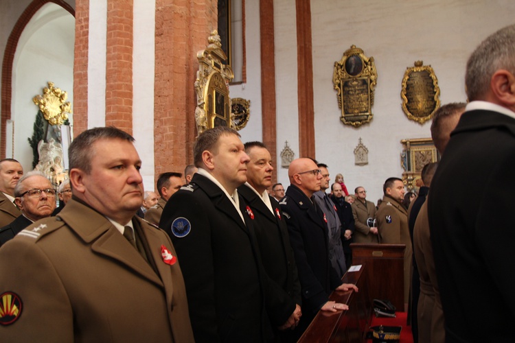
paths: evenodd
<path fill-rule="evenodd" d="M 263 143 L 265 143 L 268 147 L 272 161 L 277 161 L 277 123 L 275 117 L 275 45 L 273 29 L 273 0 L 261 0 L 260 35 Z M 273 182 L 277 182 L 277 172 L 273 174 Z"/>

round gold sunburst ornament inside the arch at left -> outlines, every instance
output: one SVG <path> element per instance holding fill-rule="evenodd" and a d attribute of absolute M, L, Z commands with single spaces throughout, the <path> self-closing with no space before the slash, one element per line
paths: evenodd
<path fill-rule="evenodd" d="M 62 125 L 71 114 L 71 104 L 66 101 L 67 98 L 67 92 L 54 87 L 54 82 L 48 82 L 48 87 L 43 88 L 43 95 L 36 95 L 32 101 L 39 106 L 50 125 Z"/>

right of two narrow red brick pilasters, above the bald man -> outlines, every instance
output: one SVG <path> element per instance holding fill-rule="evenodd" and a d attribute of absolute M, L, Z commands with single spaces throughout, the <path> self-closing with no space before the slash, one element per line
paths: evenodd
<path fill-rule="evenodd" d="M 297 65 L 299 94 L 299 156 L 315 158 L 313 61 L 310 0 L 296 0 Z"/>

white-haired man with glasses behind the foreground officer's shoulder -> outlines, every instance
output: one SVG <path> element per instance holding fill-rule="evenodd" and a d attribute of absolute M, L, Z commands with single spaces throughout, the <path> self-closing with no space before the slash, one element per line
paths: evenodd
<path fill-rule="evenodd" d="M 50 217 L 56 209 L 56 190 L 41 171 L 29 171 L 14 187 L 14 202 L 21 215 L 0 228 L 0 246 L 37 220 Z"/>

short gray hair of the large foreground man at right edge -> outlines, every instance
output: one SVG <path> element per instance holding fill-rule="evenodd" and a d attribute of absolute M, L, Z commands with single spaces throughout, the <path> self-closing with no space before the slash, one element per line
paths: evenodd
<path fill-rule="evenodd" d="M 503 27 L 483 40 L 468 58 L 465 86 L 469 101 L 483 99 L 492 75 L 499 69 L 515 75 L 515 25 Z"/>

